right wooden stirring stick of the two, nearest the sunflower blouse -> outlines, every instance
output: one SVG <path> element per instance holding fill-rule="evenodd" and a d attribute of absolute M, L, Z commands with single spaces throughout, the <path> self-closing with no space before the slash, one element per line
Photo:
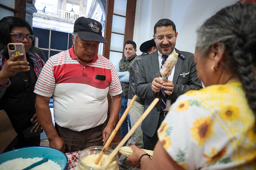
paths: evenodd
<path fill-rule="evenodd" d="M 155 98 L 152 103 L 148 106 L 148 108 L 146 109 L 146 111 L 141 115 L 141 117 L 139 118 L 139 120 L 134 124 L 134 126 L 131 128 L 131 130 L 125 135 L 125 137 L 122 139 L 122 141 L 119 143 L 119 145 L 117 145 L 117 147 L 113 150 L 113 152 L 111 152 L 108 157 L 106 158 L 106 160 L 103 162 L 103 167 L 107 167 L 110 162 L 112 161 L 112 159 L 114 158 L 114 156 L 117 154 L 117 152 L 119 151 L 119 149 L 123 146 L 123 144 L 129 139 L 129 137 L 131 136 L 131 134 L 135 131 L 135 129 L 140 125 L 140 123 L 144 120 L 144 118 L 146 118 L 146 116 L 148 115 L 148 113 L 154 108 L 154 106 L 156 105 L 156 103 L 159 101 L 159 98 Z"/>

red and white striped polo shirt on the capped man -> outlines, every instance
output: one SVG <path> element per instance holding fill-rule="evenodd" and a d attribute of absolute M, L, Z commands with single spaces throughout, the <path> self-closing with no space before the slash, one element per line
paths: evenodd
<path fill-rule="evenodd" d="M 106 80 L 97 80 L 96 75 L 105 75 Z M 82 131 L 106 121 L 107 94 L 121 94 L 122 88 L 111 61 L 98 54 L 83 66 L 72 46 L 48 59 L 34 92 L 54 98 L 54 118 L 59 126 Z"/>

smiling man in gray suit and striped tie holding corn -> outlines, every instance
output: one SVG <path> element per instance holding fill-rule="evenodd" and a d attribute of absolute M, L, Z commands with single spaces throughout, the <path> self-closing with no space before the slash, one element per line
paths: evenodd
<path fill-rule="evenodd" d="M 176 26 L 171 20 L 159 20 L 154 26 L 153 35 L 158 51 L 144 56 L 140 62 L 136 93 L 145 100 L 144 110 L 154 100 L 157 92 L 160 98 L 141 125 L 145 149 L 154 150 L 158 141 L 157 129 L 177 97 L 189 90 L 202 88 L 202 82 L 197 77 L 193 54 L 175 48 L 177 35 Z M 161 80 L 160 69 L 168 56 L 174 52 L 177 52 L 179 57 L 172 74 L 167 80 Z"/>

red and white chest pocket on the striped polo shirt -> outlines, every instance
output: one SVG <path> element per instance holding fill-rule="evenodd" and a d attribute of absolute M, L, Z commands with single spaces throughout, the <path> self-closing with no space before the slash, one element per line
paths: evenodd
<path fill-rule="evenodd" d="M 108 80 L 97 80 L 95 78 L 92 79 L 92 96 L 96 99 L 103 99 L 107 96 L 109 91 L 109 81 Z"/>

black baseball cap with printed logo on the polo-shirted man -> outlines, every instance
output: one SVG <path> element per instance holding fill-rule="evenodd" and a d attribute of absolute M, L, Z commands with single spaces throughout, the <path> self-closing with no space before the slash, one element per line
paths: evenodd
<path fill-rule="evenodd" d="M 74 32 L 77 32 L 80 39 L 84 41 L 96 41 L 107 43 L 107 40 L 102 37 L 102 25 L 100 22 L 85 18 L 83 16 L 77 18 L 74 24 Z"/>

